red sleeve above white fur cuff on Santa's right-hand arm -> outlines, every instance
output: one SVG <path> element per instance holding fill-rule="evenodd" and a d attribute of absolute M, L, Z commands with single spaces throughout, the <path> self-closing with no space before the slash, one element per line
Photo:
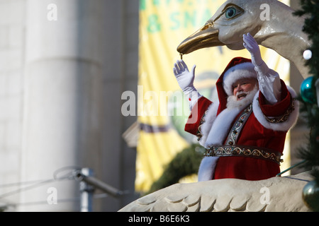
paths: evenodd
<path fill-rule="evenodd" d="M 259 92 L 259 105 L 265 116 L 269 117 L 279 117 L 286 112 L 286 109 L 291 105 L 291 95 L 287 90 L 286 84 L 281 80 L 281 101 L 276 102 L 274 105 L 267 104 L 267 100 Z"/>

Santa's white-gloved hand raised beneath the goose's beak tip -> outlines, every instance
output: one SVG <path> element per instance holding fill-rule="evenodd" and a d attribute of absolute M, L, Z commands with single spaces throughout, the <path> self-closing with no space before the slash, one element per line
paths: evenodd
<path fill-rule="evenodd" d="M 173 71 L 177 83 L 179 83 L 179 87 L 183 90 L 184 94 L 188 96 L 191 92 L 196 91 L 196 88 L 194 88 L 195 68 L 196 65 L 189 71 L 182 59 L 177 60 L 174 64 Z"/>

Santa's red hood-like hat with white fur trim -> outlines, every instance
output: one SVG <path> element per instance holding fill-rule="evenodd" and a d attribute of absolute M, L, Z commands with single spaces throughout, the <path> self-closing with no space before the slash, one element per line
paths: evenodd
<path fill-rule="evenodd" d="M 233 95 L 233 83 L 240 78 L 256 78 L 257 73 L 254 71 L 254 65 L 251 59 L 244 57 L 235 57 L 232 59 L 228 66 L 226 66 L 223 73 L 216 82 L 216 88 L 219 99 L 218 112 L 223 111 L 227 105 L 227 98 Z"/>

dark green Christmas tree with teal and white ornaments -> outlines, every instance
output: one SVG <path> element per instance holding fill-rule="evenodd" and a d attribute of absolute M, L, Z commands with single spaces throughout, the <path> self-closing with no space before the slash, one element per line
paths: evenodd
<path fill-rule="evenodd" d="M 308 66 L 310 78 L 301 84 L 301 94 L 298 98 L 301 103 L 301 116 L 308 121 L 310 133 L 308 144 L 300 149 L 300 157 L 305 160 L 308 169 L 313 169 L 315 181 L 319 184 L 319 108 L 316 97 L 315 81 L 318 81 L 319 65 L 319 3 L 314 0 L 301 0 L 301 9 L 294 13 L 295 16 L 305 16 L 303 32 L 308 35 L 312 42 L 311 47 L 304 52 L 303 56 Z M 308 56 L 306 57 L 306 53 Z"/>

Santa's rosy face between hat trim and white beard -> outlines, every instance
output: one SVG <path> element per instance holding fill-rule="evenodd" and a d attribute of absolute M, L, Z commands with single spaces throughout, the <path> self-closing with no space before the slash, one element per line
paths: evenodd
<path fill-rule="evenodd" d="M 236 100 L 243 100 L 257 85 L 255 78 L 240 78 L 233 83 L 233 95 Z"/>

